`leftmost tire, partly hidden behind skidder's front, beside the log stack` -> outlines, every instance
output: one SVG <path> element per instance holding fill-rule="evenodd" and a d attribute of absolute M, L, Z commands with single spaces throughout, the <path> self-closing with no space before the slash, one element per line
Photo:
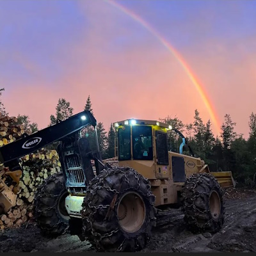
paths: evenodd
<path fill-rule="evenodd" d="M 60 236 L 68 230 L 70 217 L 65 209 L 67 195 L 63 173 L 48 177 L 36 190 L 35 219 L 43 234 Z"/>

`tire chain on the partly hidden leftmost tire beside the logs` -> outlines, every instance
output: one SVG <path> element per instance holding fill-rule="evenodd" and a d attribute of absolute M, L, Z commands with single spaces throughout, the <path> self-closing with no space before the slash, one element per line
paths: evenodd
<path fill-rule="evenodd" d="M 38 189 L 36 189 L 35 202 L 34 202 L 34 209 L 35 209 L 36 202 L 38 201 L 38 198 L 44 198 L 45 196 L 51 197 L 51 198 L 58 197 L 58 196 L 60 196 L 60 195 L 63 193 L 63 190 L 66 189 L 65 185 L 63 186 L 63 183 L 60 182 L 62 189 L 61 189 L 61 192 L 60 192 L 58 195 L 49 195 L 48 193 L 45 193 L 45 187 L 46 187 L 47 183 L 49 183 L 50 181 L 53 181 L 53 182 L 54 182 L 54 180 L 56 180 L 56 177 L 57 177 L 58 175 L 60 175 L 60 173 L 55 173 L 54 175 L 48 177 L 47 179 L 45 179 L 45 180 L 42 182 L 41 186 L 39 186 Z M 55 225 L 53 225 L 53 226 L 51 227 L 51 229 L 58 227 L 58 225 L 59 225 L 61 222 L 63 222 L 63 221 L 60 221 L 60 215 L 59 215 L 59 213 L 58 213 L 58 211 L 57 211 L 57 209 L 56 209 L 56 205 L 57 205 L 57 204 L 58 204 L 58 201 L 56 201 L 53 206 L 49 206 L 49 207 L 47 207 L 47 208 L 44 209 L 44 210 L 40 210 L 40 209 L 37 209 L 37 211 L 34 210 L 34 211 L 36 212 L 36 214 L 35 214 L 35 219 L 37 220 L 37 219 L 41 216 L 41 213 L 42 213 L 42 212 L 44 212 L 44 211 L 49 211 L 49 210 L 51 210 L 51 209 L 54 209 L 54 211 L 56 212 L 57 216 L 59 217 L 59 221 L 58 221 L 58 223 L 56 223 Z M 42 228 L 42 230 L 49 231 L 48 228 L 45 228 L 45 227 L 40 227 L 40 228 Z M 63 233 L 62 233 L 62 234 L 65 234 L 65 233 L 67 233 L 67 232 L 68 232 L 68 225 L 67 225 L 67 227 L 65 228 L 65 230 L 63 230 Z"/>

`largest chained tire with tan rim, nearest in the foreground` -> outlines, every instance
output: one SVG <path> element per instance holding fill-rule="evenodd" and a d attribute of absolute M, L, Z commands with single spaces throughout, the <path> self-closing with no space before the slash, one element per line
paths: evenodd
<path fill-rule="evenodd" d="M 150 182 L 134 169 L 102 170 L 84 197 L 83 236 L 99 252 L 141 250 L 156 225 L 155 199 Z"/>

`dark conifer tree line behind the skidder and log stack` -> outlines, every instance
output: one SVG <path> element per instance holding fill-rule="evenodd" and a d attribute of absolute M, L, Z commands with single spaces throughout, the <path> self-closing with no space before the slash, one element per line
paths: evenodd
<path fill-rule="evenodd" d="M 0 97 L 4 88 L 0 89 Z M 92 102 L 90 95 L 86 99 L 84 110 L 89 110 L 93 114 Z M 55 115 L 50 116 L 49 126 L 56 124 L 58 119 L 65 120 L 73 115 L 74 109 L 70 102 L 65 99 L 59 99 L 56 106 Z M 0 112 L 8 115 L 0 100 Z M 28 115 L 18 115 L 18 124 L 24 125 L 24 128 L 33 133 L 38 131 L 38 125 L 31 122 Z M 172 125 L 186 136 L 186 140 L 196 157 L 204 159 L 212 172 L 232 171 L 233 177 L 238 184 L 254 186 L 254 175 L 256 170 L 256 114 L 252 112 L 248 120 L 250 131 L 249 138 L 245 139 L 243 134 L 237 134 L 235 131 L 236 123 L 232 122 L 229 114 L 224 116 L 224 122 L 221 124 L 220 136 L 214 136 L 212 133 L 212 124 L 208 120 L 205 124 L 200 117 L 198 110 L 195 110 L 193 122 L 184 124 L 177 118 L 159 118 L 159 121 Z M 102 122 L 97 124 L 97 134 L 99 139 L 99 148 L 102 152 L 102 158 L 111 158 L 115 156 L 115 138 L 116 132 L 113 124 L 109 125 L 108 131 L 104 128 Z M 81 131 L 82 136 L 89 140 L 92 150 L 96 149 L 94 132 L 92 127 L 85 127 Z M 168 133 L 168 150 L 179 152 L 181 138 L 175 132 Z M 49 147 L 56 147 L 51 145 Z M 189 155 L 189 148 L 185 147 L 183 154 Z"/>

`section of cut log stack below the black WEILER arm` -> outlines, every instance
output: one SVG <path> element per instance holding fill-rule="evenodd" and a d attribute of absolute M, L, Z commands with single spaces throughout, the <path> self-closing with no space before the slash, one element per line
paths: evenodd
<path fill-rule="evenodd" d="M 16 205 L 9 212 L 0 216 L 0 229 L 20 227 L 33 218 L 33 201 L 36 189 L 44 179 L 60 172 L 61 164 L 56 150 L 45 150 L 22 157 L 22 177 Z"/>

